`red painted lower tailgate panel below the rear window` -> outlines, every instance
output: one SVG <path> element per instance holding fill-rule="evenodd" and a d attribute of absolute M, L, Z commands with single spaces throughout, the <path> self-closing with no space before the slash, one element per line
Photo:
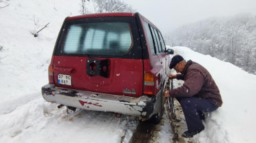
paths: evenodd
<path fill-rule="evenodd" d="M 107 58 L 93 58 L 104 60 Z M 109 77 L 90 76 L 86 73 L 88 57 L 55 56 L 53 73 L 55 85 L 68 89 L 109 93 L 121 96 L 142 96 L 143 64 L 142 59 L 109 59 Z M 61 68 L 59 68 L 61 67 Z M 73 69 L 73 73 L 70 70 Z M 58 74 L 71 75 L 72 86 L 58 84 Z M 124 89 L 135 90 L 136 94 L 123 93 Z"/>

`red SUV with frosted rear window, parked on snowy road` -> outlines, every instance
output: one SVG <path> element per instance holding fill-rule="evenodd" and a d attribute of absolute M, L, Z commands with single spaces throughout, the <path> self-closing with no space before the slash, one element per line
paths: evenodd
<path fill-rule="evenodd" d="M 159 123 L 170 56 L 159 29 L 139 13 L 67 17 L 43 98 L 67 107 L 116 112 Z M 153 117 L 153 118 L 152 118 Z"/>

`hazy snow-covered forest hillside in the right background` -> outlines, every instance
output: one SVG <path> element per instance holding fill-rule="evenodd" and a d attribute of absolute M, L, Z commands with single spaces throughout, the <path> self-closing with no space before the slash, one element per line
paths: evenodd
<path fill-rule="evenodd" d="M 186 46 L 256 74 L 256 16 L 211 17 L 165 36 L 166 45 Z"/>

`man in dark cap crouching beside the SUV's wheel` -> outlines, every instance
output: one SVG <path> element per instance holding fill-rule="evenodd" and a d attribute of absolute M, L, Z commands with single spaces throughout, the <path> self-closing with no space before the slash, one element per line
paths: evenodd
<path fill-rule="evenodd" d="M 177 89 L 165 92 L 165 97 L 176 98 L 187 123 L 187 131 L 183 137 L 193 137 L 204 130 L 203 112 L 213 112 L 222 106 L 222 98 L 213 77 L 206 68 L 194 61 L 185 61 L 180 55 L 175 55 L 170 62 L 177 75 L 169 75 L 170 79 L 184 80 Z"/>

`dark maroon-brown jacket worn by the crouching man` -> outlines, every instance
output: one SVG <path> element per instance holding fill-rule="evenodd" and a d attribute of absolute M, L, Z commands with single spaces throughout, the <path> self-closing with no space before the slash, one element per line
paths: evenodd
<path fill-rule="evenodd" d="M 206 68 L 194 61 L 187 61 L 181 74 L 177 74 L 177 80 L 184 80 L 184 84 L 170 91 L 170 97 L 197 97 L 206 98 L 214 105 L 220 107 L 222 98 L 213 77 Z"/>

